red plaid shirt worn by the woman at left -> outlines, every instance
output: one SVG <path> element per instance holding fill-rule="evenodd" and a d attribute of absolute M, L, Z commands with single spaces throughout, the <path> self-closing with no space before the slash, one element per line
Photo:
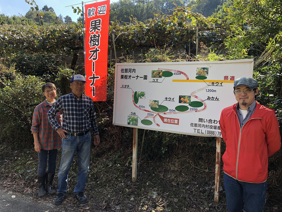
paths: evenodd
<path fill-rule="evenodd" d="M 47 100 L 37 105 L 32 116 L 31 133 L 38 133 L 38 141 L 42 149 L 52 150 L 61 147 L 61 138 L 59 134 L 52 129 L 48 122 L 47 112 L 51 106 Z M 56 116 L 58 123 L 61 123 L 61 113 Z"/>

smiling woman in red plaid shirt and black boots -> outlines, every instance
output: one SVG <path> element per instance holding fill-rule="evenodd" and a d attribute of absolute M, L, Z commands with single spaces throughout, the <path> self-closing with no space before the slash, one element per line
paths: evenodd
<path fill-rule="evenodd" d="M 53 130 L 48 122 L 47 112 L 55 103 L 57 90 L 55 84 L 47 82 L 42 86 L 42 91 L 46 99 L 37 105 L 32 116 L 31 133 L 34 138 L 34 149 L 38 152 L 38 196 L 44 196 L 46 192 L 50 195 L 56 194 L 51 189 L 56 171 L 56 161 L 58 149 L 61 147 L 61 138 L 56 130 Z M 58 123 L 61 125 L 61 113 L 56 116 Z M 46 172 L 48 163 L 48 169 Z"/>

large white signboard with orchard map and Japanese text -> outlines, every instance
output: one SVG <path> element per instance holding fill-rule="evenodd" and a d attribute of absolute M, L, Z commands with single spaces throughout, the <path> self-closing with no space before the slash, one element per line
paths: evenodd
<path fill-rule="evenodd" d="M 221 137 L 233 82 L 252 77 L 253 60 L 116 64 L 115 125 Z"/>

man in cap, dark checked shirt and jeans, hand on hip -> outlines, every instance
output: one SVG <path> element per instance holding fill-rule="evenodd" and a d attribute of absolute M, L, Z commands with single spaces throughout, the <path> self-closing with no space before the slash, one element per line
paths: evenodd
<path fill-rule="evenodd" d="M 78 159 L 78 174 L 74 195 L 80 205 L 85 205 L 88 202 L 84 195 L 84 189 L 90 161 L 91 135 L 89 130 L 92 129 L 95 145 L 100 144 L 100 136 L 93 101 L 83 94 L 85 83 L 86 80 L 82 75 L 74 75 L 71 79 L 72 93 L 60 97 L 48 112 L 51 126 L 62 138 L 62 154 L 58 174 L 59 189 L 55 205 L 60 205 L 64 201 L 67 193 L 68 173 L 75 152 Z M 55 118 L 59 111 L 62 111 L 63 114 L 62 126 Z"/>

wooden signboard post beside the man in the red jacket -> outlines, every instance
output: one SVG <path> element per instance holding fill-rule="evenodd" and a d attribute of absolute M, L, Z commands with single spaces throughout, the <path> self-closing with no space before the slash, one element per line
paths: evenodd
<path fill-rule="evenodd" d="M 221 141 L 222 138 L 216 138 L 216 161 L 215 161 L 215 184 L 214 184 L 214 201 L 219 202 L 220 187 L 220 161 L 221 161 Z"/>

